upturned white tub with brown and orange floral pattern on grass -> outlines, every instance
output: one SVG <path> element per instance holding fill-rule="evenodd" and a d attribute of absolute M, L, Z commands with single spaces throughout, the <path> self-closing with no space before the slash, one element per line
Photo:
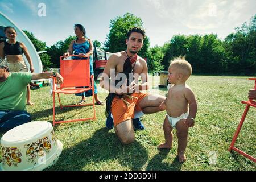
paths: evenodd
<path fill-rule="evenodd" d="M 51 123 L 32 121 L 7 131 L 1 147 L 3 171 L 40 171 L 57 162 L 63 145 Z"/>

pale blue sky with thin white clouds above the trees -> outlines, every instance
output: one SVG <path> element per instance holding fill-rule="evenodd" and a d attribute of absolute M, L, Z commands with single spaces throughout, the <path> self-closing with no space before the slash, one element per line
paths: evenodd
<path fill-rule="evenodd" d="M 46 5 L 39 16 L 38 5 Z M 41 6 L 42 7 L 42 6 Z M 150 46 L 162 46 L 177 34 L 218 34 L 224 39 L 256 14 L 255 0 L 1 0 L 0 11 L 47 46 L 85 26 L 92 40 L 105 42 L 110 19 L 129 12 L 142 19 Z"/>

